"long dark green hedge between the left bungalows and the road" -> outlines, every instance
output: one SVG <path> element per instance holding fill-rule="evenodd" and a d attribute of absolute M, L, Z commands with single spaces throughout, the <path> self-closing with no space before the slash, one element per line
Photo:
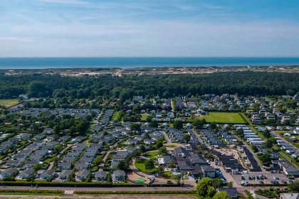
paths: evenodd
<path fill-rule="evenodd" d="M 112 184 L 112 183 L 52 183 L 47 181 L 41 182 L 14 182 L 14 181 L 1 181 L 3 185 L 11 185 L 11 186 L 41 186 L 41 187 L 142 187 L 143 185 L 137 184 L 129 184 L 129 183 L 119 183 L 119 184 Z"/>

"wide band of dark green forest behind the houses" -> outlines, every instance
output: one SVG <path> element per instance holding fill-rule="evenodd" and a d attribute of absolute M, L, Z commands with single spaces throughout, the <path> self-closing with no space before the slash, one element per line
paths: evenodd
<path fill-rule="evenodd" d="M 0 75 L 0 99 L 73 97 L 120 98 L 133 95 L 172 97 L 223 93 L 238 95 L 294 95 L 299 75 L 286 72 L 214 72 L 186 75 L 112 75 L 64 77 L 61 75 Z"/>

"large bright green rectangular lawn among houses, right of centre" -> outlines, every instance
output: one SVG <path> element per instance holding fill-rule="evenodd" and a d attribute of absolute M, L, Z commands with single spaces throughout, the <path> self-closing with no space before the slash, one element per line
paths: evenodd
<path fill-rule="evenodd" d="M 237 112 L 209 112 L 209 114 L 199 117 L 199 119 L 206 119 L 206 122 L 246 123 Z"/>

